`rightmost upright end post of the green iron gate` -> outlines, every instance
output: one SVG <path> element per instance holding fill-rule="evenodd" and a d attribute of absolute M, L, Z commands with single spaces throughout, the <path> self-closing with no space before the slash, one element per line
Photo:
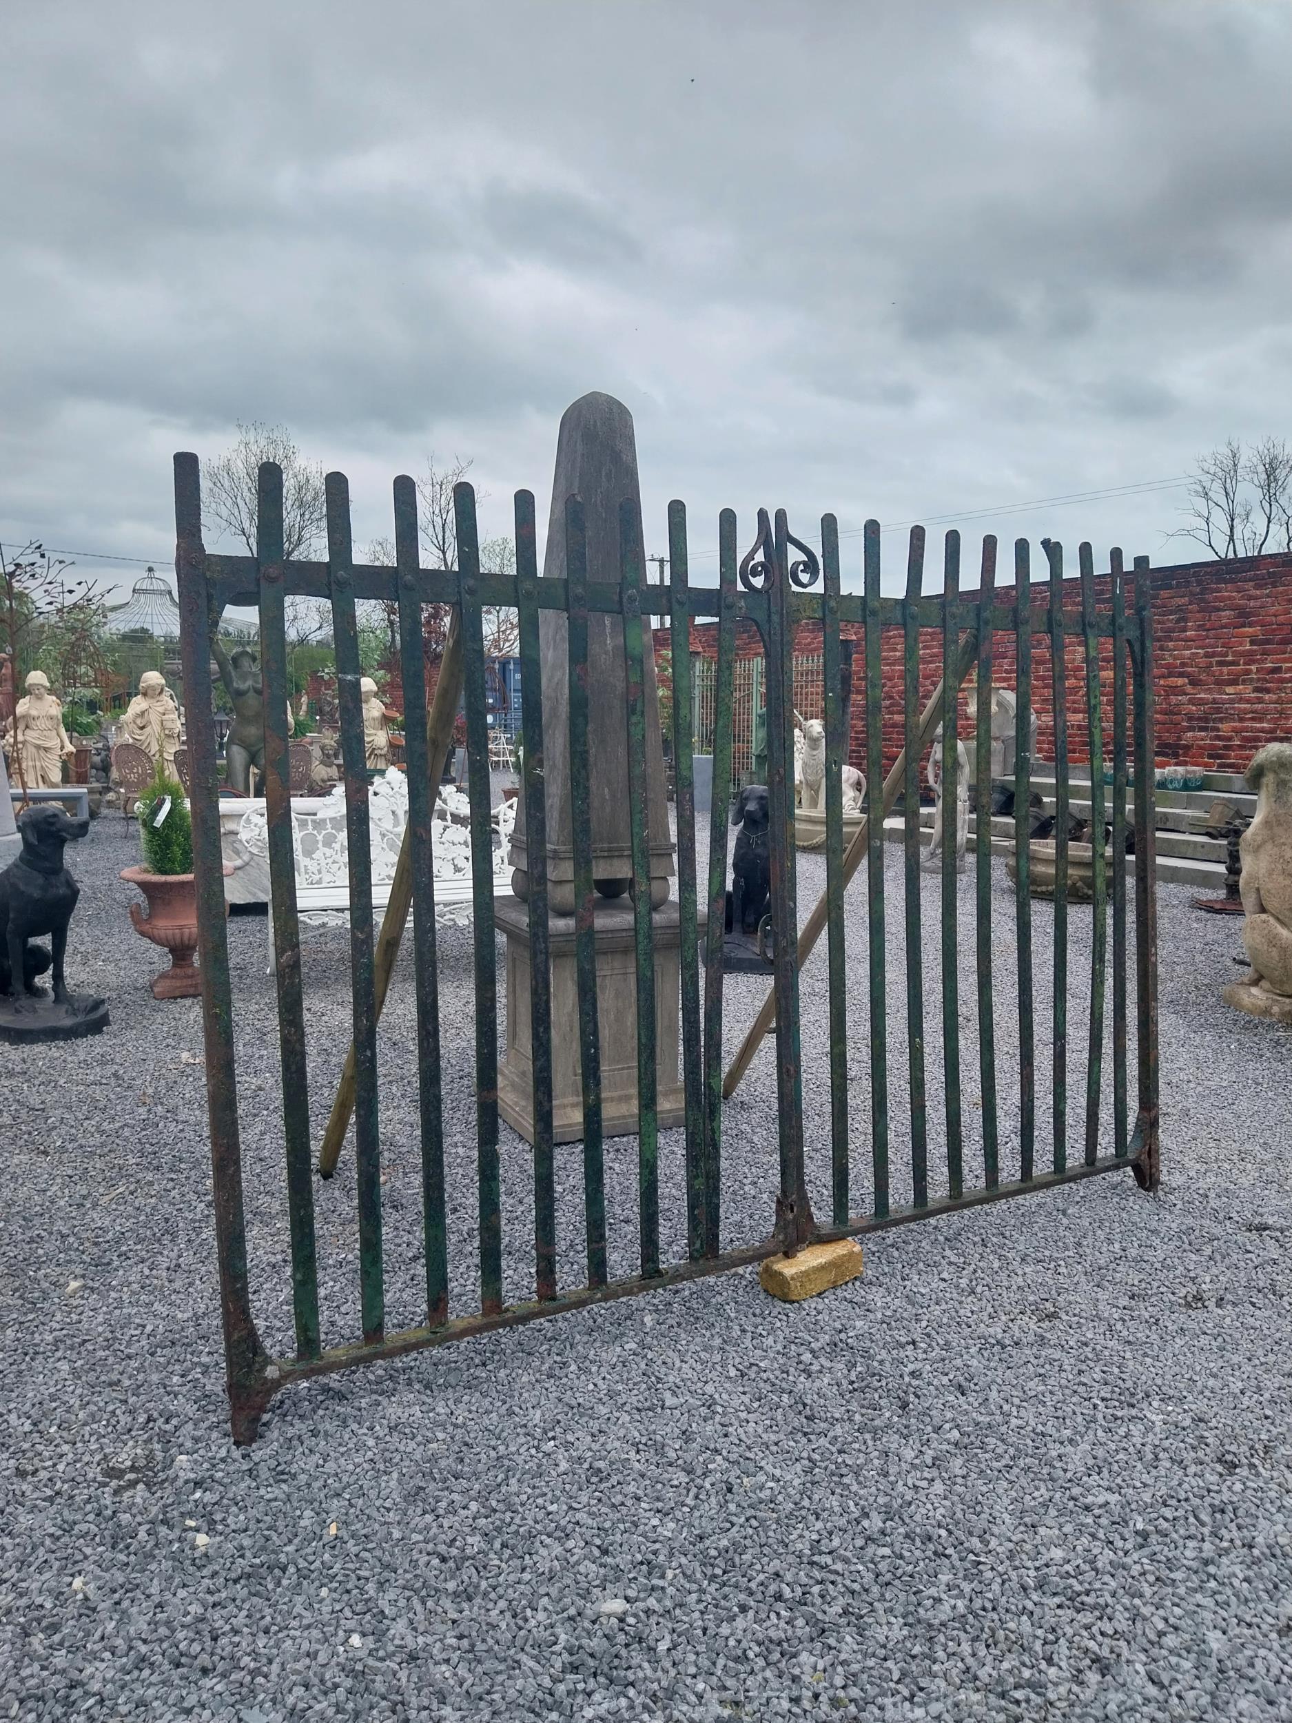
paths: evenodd
<path fill-rule="evenodd" d="M 1158 820 L 1152 712 L 1152 589 L 1149 558 L 1135 558 L 1135 1008 L 1139 1134 L 1135 1179 L 1158 1189 Z"/>

